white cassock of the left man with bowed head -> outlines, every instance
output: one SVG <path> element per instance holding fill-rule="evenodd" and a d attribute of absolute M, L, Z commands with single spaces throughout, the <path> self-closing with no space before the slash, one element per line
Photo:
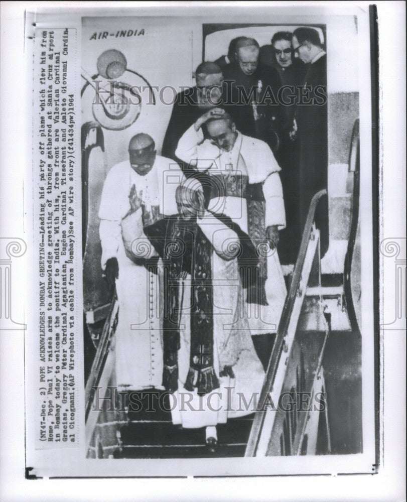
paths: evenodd
<path fill-rule="evenodd" d="M 144 224 L 177 211 L 175 190 L 182 172 L 174 161 L 156 156 L 153 168 L 140 176 L 129 160 L 113 166 L 103 185 L 99 209 L 101 265 L 117 258 L 119 302 L 115 333 L 116 383 L 119 388 L 141 390 L 161 387 L 163 376 L 162 291 L 160 274 L 134 263 L 126 254 L 121 222 L 130 210 L 129 194 L 134 185 L 143 201 Z"/>

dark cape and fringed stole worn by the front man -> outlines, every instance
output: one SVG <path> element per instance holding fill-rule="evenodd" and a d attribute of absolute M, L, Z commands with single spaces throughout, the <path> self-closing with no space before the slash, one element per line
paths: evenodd
<path fill-rule="evenodd" d="M 254 245 L 231 218 L 215 215 L 222 223 L 232 228 L 240 239 L 237 256 L 241 283 L 255 301 L 261 297 L 259 260 Z M 164 371 L 163 386 L 174 392 L 178 389 L 178 350 L 180 349 L 181 313 L 184 285 L 182 272 L 191 276 L 190 320 L 191 348 L 189 370 L 185 389 L 197 389 L 205 395 L 219 387 L 213 366 L 213 246 L 196 222 L 187 222 L 178 216 L 164 218 L 144 228 L 146 236 L 163 259 L 164 268 Z M 249 295 L 248 295 L 249 296 Z M 252 300 L 252 301 L 254 301 Z M 249 298 L 247 301 L 250 301 Z M 184 312 L 185 313 L 185 312 Z M 220 376 L 233 378 L 231 367 L 225 366 Z M 184 375 L 181 375 L 182 378 Z"/>

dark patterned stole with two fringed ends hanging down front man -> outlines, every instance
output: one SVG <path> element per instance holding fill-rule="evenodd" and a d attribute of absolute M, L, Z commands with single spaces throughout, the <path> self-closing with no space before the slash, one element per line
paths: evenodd
<path fill-rule="evenodd" d="M 178 389 L 178 357 L 183 271 L 191 275 L 190 367 L 185 389 L 205 395 L 219 387 L 213 367 L 212 244 L 196 222 L 170 219 L 164 248 L 163 386 Z M 192 258 L 193 257 L 193 258 Z M 189 290 L 189 288 L 187 289 Z M 188 302 L 187 302 L 188 304 Z M 184 376 L 184 375 L 182 375 Z"/>

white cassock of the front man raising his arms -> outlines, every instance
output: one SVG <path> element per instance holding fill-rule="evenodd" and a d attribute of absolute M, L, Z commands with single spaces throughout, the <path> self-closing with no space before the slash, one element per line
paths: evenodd
<path fill-rule="evenodd" d="M 134 237 L 144 241 L 141 211 Z M 219 388 L 204 396 L 198 396 L 184 388 L 190 367 L 191 349 L 191 275 L 182 281 L 180 298 L 180 349 L 178 350 L 178 391 L 170 396 L 174 424 L 184 428 L 216 426 L 235 418 L 253 413 L 253 396 L 258 395 L 264 380 L 264 369 L 254 350 L 246 319 L 239 319 L 239 271 L 236 258 L 230 249 L 238 246 L 239 238 L 227 225 L 205 211 L 197 220 L 199 227 L 212 244 L 211 256 L 213 287 L 213 367 L 219 380 Z M 235 247 L 236 248 L 236 247 Z M 137 253 L 137 250 L 134 250 Z M 140 253 L 144 255 L 144 250 Z M 154 256 L 154 252 L 148 256 Z M 225 366 L 231 366 L 234 378 L 220 376 Z M 256 398 L 254 397 L 254 402 Z"/>

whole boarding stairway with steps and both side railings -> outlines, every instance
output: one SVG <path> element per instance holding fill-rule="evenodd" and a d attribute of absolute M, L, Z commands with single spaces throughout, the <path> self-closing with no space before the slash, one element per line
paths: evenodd
<path fill-rule="evenodd" d="M 164 410 L 170 408 L 166 399 L 161 402 L 162 406 L 157 406 L 163 391 L 143 391 L 140 395 L 143 406 L 139 411 L 131 411 L 125 397 L 112 394 L 117 302 L 95 311 L 96 317 L 97 313 L 107 312 L 101 331 L 95 328 L 98 323 L 100 325 L 100 319 L 95 320 L 94 313 L 86 313 L 88 321 L 95 321 L 86 324 L 97 341 L 85 392 L 88 457 L 251 457 L 332 452 L 324 369 L 326 349 L 332 336 L 332 314 L 335 313 L 332 305 L 349 319 L 349 340 L 353 343 L 354 334 L 360 335 L 352 284 L 359 221 L 358 123 L 352 135 L 349 172 L 354 203 L 343 283 L 326 284 L 321 274 L 320 234 L 315 225 L 318 204 L 327 197 L 326 190 L 321 190 L 311 202 L 294 272 L 288 278 L 289 292 L 258 399 L 258 411 L 219 424 L 219 448 L 215 454 L 208 453 L 205 448 L 201 429 L 182 429 L 172 424 L 171 412 Z M 286 400 L 279 406 L 282 395 Z M 311 406 L 299 404 L 299 396 L 310 396 Z M 101 403 L 100 411 L 95 411 L 98 403 Z M 152 403 L 156 403 L 156 406 L 153 404 L 154 413 L 147 411 Z"/>

